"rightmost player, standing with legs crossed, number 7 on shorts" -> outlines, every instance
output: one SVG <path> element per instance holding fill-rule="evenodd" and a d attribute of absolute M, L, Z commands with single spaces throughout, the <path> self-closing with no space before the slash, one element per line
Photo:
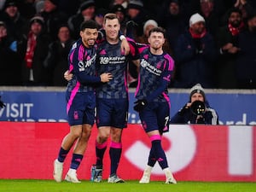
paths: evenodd
<path fill-rule="evenodd" d="M 162 134 L 169 131 L 171 103 L 167 87 L 171 81 L 174 61 L 162 49 L 165 43 L 165 31 L 162 28 L 155 27 L 150 30 L 148 43 L 149 46 L 139 48 L 139 76 L 135 93 L 137 102 L 134 106 L 151 141 L 148 166 L 139 183 L 149 183 L 156 161 L 166 174 L 166 183 L 177 183 L 161 145 Z"/>

